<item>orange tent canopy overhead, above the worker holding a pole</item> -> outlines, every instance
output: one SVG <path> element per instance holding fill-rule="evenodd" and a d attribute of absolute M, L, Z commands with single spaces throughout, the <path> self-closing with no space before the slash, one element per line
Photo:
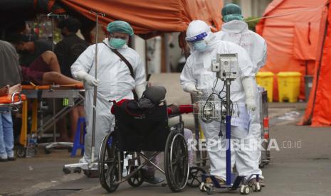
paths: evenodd
<path fill-rule="evenodd" d="M 201 19 L 221 28 L 220 0 L 61 0 L 61 3 L 95 21 L 90 10 L 105 13 L 100 23 L 127 21 L 136 34 L 154 36 L 164 32 L 183 32 L 194 19 Z"/>

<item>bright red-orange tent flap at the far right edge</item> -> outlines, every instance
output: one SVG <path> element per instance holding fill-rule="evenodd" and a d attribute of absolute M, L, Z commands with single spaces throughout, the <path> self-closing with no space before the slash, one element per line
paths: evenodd
<path fill-rule="evenodd" d="M 331 126 L 331 9 L 328 4 L 320 28 L 320 50 L 318 50 L 315 80 L 309 102 L 301 124 Z M 325 17 L 324 17 L 325 16 Z"/>

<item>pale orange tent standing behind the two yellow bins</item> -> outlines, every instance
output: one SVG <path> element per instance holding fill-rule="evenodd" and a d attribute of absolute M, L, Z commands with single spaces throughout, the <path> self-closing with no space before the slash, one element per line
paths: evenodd
<path fill-rule="evenodd" d="M 268 58 L 261 71 L 295 71 L 303 75 L 300 99 L 305 98 L 304 76 L 314 75 L 320 23 L 327 0 L 274 0 L 256 27 L 266 39 Z M 274 100 L 278 100 L 277 80 L 274 83 Z"/>

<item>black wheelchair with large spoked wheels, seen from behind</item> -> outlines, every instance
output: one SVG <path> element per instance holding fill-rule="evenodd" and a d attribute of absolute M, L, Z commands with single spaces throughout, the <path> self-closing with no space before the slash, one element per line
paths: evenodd
<path fill-rule="evenodd" d="M 125 181 L 132 187 L 139 187 L 145 178 L 142 168 L 150 163 L 166 176 L 172 192 L 182 191 L 189 178 L 189 155 L 182 115 L 168 116 L 165 101 L 145 111 L 129 111 L 126 104 L 120 107 L 114 104 L 113 107 L 115 129 L 103 138 L 98 160 L 102 187 L 107 192 L 115 192 Z M 169 119 L 175 116 L 179 121 L 169 126 Z M 147 157 L 142 151 L 154 153 Z M 162 152 L 164 169 L 152 161 Z M 127 175 L 124 177 L 123 159 L 127 156 Z"/>

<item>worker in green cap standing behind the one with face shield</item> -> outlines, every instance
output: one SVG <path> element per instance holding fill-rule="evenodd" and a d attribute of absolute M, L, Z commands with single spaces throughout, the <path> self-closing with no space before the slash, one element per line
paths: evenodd
<path fill-rule="evenodd" d="M 267 57 L 267 45 L 266 40 L 264 40 L 257 33 L 248 30 L 248 25 L 243 21 L 243 16 L 241 15 L 241 8 L 236 4 L 226 4 L 222 11 L 222 20 L 224 24 L 221 31 L 215 33 L 217 39 L 226 40 L 232 43 L 236 43 L 243 47 L 251 58 L 253 62 L 253 70 L 256 74 L 261 67 L 266 65 Z M 261 122 L 260 122 L 260 97 L 261 94 L 258 93 L 256 96 L 256 112 L 251 113 L 251 122 L 249 126 L 249 132 L 252 134 L 253 138 L 256 138 L 258 142 L 261 140 Z M 261 142 L 260 142 L 261 143 Z M 261 151 L 256 151 L 258 153 L 258 160 L 261 159 Z M 256 158 L 252 161 L 256 161 Z M 256 163 L 255 163 L 256 164 Z M 262 186 L 265 185 L 263 177 L 261 176 L 260 183 Z"/>

